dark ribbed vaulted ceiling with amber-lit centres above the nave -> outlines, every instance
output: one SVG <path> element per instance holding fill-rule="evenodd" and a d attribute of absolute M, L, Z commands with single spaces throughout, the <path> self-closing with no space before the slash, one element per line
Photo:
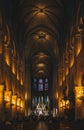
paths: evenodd
<path fill-rule="evenodd" d="M 75 0 L 9 0 L 5 6 L 17 39 L 33 76 L 49 76 L 65 47 L 73 19 Z"/>

